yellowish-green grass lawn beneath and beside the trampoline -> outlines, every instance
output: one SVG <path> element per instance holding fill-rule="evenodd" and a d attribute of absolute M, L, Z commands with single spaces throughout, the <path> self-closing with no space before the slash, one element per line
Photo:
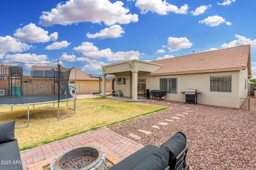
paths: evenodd
<path fill-rule="evenodd" d="M 73 102 L 68 104 L 72 107 Z M 16 128 L 15 138 L 18 139 L 20 150 L 25 150 L 165 108 L 167 107 L 109 98 L 83 99 L 76 100 L 74 115 L 58 120 L 57 104 L 54 108 L 41 109 L 34 109 L 31 105 L 29 126 Z M 10 107 L 0 108 L 0 112 L 8 110 Z M 66 102 L 61 102 L 60 117 L 71 113 L 72 110 L 66 108 Z M 16 126 L 26 126 L 27 106 L 16 106 L 12 112 L 0 113 L 0 123 L 12 120 L 16 121 Z"/>

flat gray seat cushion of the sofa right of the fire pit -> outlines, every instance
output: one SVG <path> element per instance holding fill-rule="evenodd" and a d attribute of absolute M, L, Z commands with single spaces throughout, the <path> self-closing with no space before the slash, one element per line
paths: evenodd
<path fill-rule="evenodd" d="M 134 152 L 121 162 L 118 162 L 114 166 L 110 167 L 108 170 L 131 170 L 132 167 L 137 164 L 142 158 L 153 152 L 154 150 L 157 150 L 158 147 L 154 145 L 146 145 L 142 149 Z"/>

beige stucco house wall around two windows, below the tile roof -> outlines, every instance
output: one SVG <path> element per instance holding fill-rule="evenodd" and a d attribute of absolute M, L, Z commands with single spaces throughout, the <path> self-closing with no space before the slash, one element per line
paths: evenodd
<path fill-rule="evenodd" d="M 232 76 L 232 92 L 210 92 L 210 76 L 223 75 Z M 247 90 L 242 90 L 242 88 L 244 88 L 244 76 L 245 73 L 240 73 L 240 71 L 229 71 L 200 74 L 177 74 L 169 76 L 148 76 L 146 81 L 148 89 L 159 90 L 160 78 L 178 78 L 178 93 L 166 94 L 165 100 L 185 102 L 186 97 L 184 94 L 181 94 L 181 92 L 185 92 L 186 89 L 197 89 L 198 92 L 202 92 L 202 94 L 198 94 L 198 104 L 239 108 L 239 97 L 246 97 L 247 94 Z M 243 84 L 243 86 L 240 87 L 240 84 Z M 243 94 L 240 95 L 240 92 Z"/>

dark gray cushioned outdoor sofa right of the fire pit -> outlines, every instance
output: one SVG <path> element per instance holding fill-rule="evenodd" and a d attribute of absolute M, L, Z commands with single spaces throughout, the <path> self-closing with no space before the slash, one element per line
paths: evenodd
<path fill-rule="evenodd" d="M 108 170 L 188 170 L 186 136 L 175 133 L 159 148 L 146 145 Z"/>

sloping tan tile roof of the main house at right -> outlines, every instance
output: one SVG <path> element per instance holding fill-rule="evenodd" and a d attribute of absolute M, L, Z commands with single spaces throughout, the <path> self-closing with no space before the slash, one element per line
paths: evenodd
<path fill-rule="evenodd" d="M 151 61 L 153 63 L 163 64 L 164 66 L 151 72 L 150 75 L 238 70 L 246 68 L 248 62 L 250 62 L 249 60 L 250 45 L 242 45 Z"/>

